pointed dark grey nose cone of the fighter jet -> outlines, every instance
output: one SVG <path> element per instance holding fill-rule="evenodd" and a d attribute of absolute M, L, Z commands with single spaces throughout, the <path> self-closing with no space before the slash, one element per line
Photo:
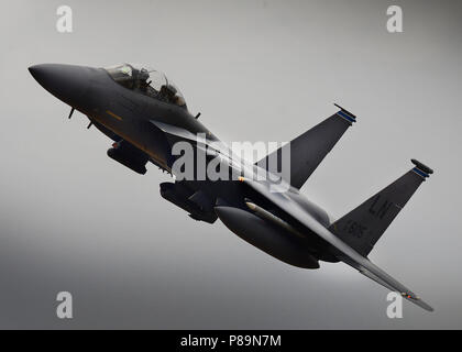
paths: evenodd
<path fill-rule="evenodd" d="M 91 68 L 74 65 L 42 64 L 29 67 L 35 80 L 56 98 L 77 107 L 90 87 Z"/>

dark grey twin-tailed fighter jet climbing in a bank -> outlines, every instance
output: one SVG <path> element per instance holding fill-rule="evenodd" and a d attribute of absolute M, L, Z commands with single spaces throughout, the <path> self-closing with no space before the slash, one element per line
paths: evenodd
<path fill-rule="evenodd" d="M 287 264 L 319 268 L 319 262 L 343 262 L 404 298 L 431 311 L 415 293 L 373 264 L 369 254 L 432 169 L 414 166 L 342 218 L 332 221 L 308 200 L 301 186 L 356 117 L 336 105 L 336 113 L 256 163 L 237 160 L 223 143 L 188 111 L 179 89 L 161 72 L 122 64 L 108 68 L 43 64 L 29 67 L 47 91 L 89 119 L 89 125 L 113 141 L 108 156 L 138 174 L 148 162 L 172 174 L 161 195 L 198 221 L 218 218 L 238 237 Z M 201 135 L 201 139 L 198 139 Z M 175 152 L 189 143 L 193 178 L 179 178 Z M 206 163 L 196 156 L 205 155 Z M 289 155 L 289 173 L 277 167 Z M 197 177 L 217 157 L 228 179 Z M 287 157 L 287 156 L 286 156 Z M 275 161 L 275 163 L 271 163 Z M 202 165 L 204 164 L 204 165 Z M 204 174 L 204 173 L 202 173 Z M 206 173 L 207 174 L 207 173 Z M 266 177 L 253 177 L 254 175 Z"/>

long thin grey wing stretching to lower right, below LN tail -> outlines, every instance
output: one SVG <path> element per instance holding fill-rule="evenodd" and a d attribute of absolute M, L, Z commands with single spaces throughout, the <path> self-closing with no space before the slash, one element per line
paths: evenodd
<path fill-rule="evenodd" d="M 400 295 L 416 304 L 417 306 L 432 311 L 428 304 L 421 300 L 416 294 L 414 294 L 409 288 L 404 286 L 402 283 L 389 276 L 369 258 L 362 256 L 351 246 L 336 237 L 332 232 L 326 229 L 321 223 L 319 223 L 315 218 L 307 213 L 300 206 L 294 202 L 289 197 L 284 193 L 271 191 L 268 188 L 268 183 L 264 182 L 254 182 L 248 178 L 241 177 L 240 179 L 245 185 L 264 196 L 267 200 L 278 207 L 280 210 L 286 212 L 288 216 L 297 220 L 300 224 L 317 233 L 321 239 L 328 242 L 333 249 L 334 254 L 345 264 L 356 268 L 361 274 L 366 277 L 375 280 L 382 286 L 391 290 L 400 293 Z"/>

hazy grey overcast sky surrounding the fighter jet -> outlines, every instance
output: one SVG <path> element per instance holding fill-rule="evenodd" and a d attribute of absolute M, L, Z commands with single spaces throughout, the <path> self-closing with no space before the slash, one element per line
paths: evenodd
<path fill-rule="evenodd" d="M 0 328 L 462 328 L 460 1 L 6 1 L 0 13 Z M 386 31 L 400 4 L 404 33 Z M 227 141 L 288 141 L 343 105 L 358 123 L 304 186 L 333 218 L 407 172 L 436 173 L 371 258 L 430 302 L 343 264 L 305 271 L 161 198 L 168 180 L 30 76 L 38 63 L 163 70 Z M 74 319 L 56 318 L 56 294 Z"/>

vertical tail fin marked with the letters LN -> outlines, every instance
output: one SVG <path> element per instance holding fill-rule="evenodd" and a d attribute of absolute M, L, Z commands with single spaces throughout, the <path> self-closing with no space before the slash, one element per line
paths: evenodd
<path fill-rule="evenodd" d="M 433 173 L 422 163 L 414 158 L 411 162 L 413 169 L 332 223 L 329 230 L 367 256 L 420 184 Z"/>

